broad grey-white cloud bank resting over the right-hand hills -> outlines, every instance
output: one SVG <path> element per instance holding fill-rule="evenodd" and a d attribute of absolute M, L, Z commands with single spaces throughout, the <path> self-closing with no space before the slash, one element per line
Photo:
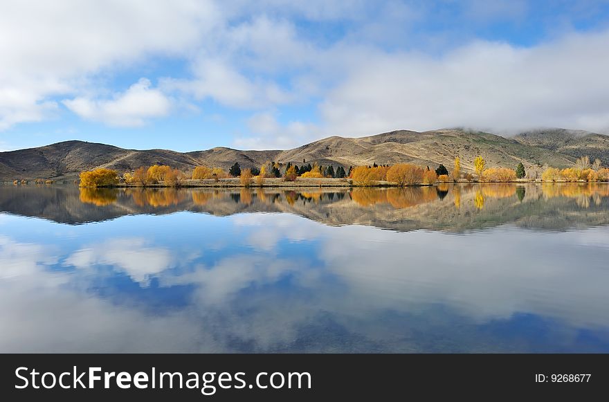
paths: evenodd
<path fill-rule="evenodd" d="M 367 57 L 320 105 L 332 134 L 478 127 L 609 128 L 609 31 L 533 48 L 476 42 L 444 57 Z"/>

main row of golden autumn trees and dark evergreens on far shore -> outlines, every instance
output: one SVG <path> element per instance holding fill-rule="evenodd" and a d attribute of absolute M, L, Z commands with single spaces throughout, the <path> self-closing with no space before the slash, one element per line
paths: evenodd
<path fill-rule="evenodd" d="M 394 165 L 361 165 L 349 167 L 348 171 L 342 165 L 318 165 L 302 161 L 298 166 L 288 162 L 287 164 L 275 161 L 266 161 L 260 167 L 242 169 L 235 162 L 228 172 L 220 167 L 197 166 L 192 173 L 187 174 L 167 165 L 152 165 L 139 167 L 134 172 L 126 172 L 119 176 L 118 172 L 110 169 L 96 169 L 82 172 L 80 174 L 80 185 L 82 187 L 111 187 L 121 182 L 131 185 L 163 185 L 179 187 L 187 179 L 220 181 L 230 177 L 239 178 L 242 185 L 248 186 L 255 181 L 257 185 L 264 185 L 266 179 L 283 178 L 284 181 L 296 181 L 298 177 L 303 179 L 352 179 L 354 185 L 376 185 L 379 182 L 388 182 L 401 186 L 406 185 L 431 185 L 433 183 L 465 181 L 482 182 L 510 182 L 523 179 L 526 176 L 525 167 L 522 162 L 513 169 L 506 167 L 489 167 L 482 156 L 473 160 L 474 176 L 471 173 L 462 174 L 461 160 L 455 157 L 453 170 L 449 172 L 446 166 L 439 164 L 435 169 L 429 166 L 421 167 L 411 163 L 397 163 Z M 590 163 L 588 156 L 578 158 L 574 167 L 558 170 L 549 167 L 541 176 L 542 181 L 609 181 L 609 169 L 602 167 L 599 159 Z"/>

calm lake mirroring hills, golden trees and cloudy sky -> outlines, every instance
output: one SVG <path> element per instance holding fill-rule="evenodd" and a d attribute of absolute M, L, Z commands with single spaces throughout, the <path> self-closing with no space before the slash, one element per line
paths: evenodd
<path fill-rule="evenodd" d="M 1 352 L 608 352 L 609 185 L 0 187 Z"/>

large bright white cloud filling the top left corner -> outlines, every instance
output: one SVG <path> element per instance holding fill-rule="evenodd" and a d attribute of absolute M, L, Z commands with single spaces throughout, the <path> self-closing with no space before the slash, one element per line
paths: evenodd
<path fill-rule="evenodd" d="M 104 68 L 185 55 L 217 13 L 205 0 L 3 2 L 0 129 L 48 118 L 53 97 L 79 93 Z"/>

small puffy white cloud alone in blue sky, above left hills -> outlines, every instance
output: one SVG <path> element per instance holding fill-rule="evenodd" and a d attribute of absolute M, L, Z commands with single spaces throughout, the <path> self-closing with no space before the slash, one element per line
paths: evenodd
<path fill-rule="evenodd" d="M 63 104 L 84 119 L 125 127 L 141 126 L 147 118 L 167 116 L 171 109 L 170 99 L 158 89 L 150 88 L 146 78 L 140 78 L 111 100 L 82 97 L 64 100 Z"/>

